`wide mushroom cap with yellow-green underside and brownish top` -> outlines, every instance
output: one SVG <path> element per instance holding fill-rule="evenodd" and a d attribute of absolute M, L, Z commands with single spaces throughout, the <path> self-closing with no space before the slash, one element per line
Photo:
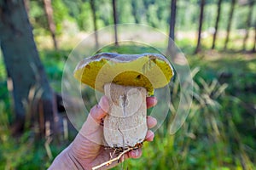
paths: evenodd
<path fill-rule="evenodd" d="M 74 77 L 80 82 L 104 92 L 104 84 L 143 87 L 148 95 L 162 88 L 173 76 L 172 65 L 161 54 L 102 53 L 79 62 Z"/>

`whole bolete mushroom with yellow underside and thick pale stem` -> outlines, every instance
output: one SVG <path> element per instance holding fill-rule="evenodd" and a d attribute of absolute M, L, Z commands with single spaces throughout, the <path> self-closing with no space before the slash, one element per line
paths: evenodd
<path fill-rule="evenodd" d="M 110 109 L 103 133 L 108 146 L 131 148 L 143 143 L 147 127 L 146 97 L 173 76 L 161 54 L 102 53 L 83 59 L 74 71 L 80 82 L 104 92 Z"/>

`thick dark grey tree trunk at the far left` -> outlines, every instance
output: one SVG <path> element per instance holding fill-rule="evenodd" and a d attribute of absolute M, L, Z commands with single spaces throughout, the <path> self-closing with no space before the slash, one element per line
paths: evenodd
<path fill-rule="evenodd" d="M 39 114 L 39 127 L 57 121 L 55 96 L 49 87 L 44 66 L 32 35 L 24 2 L 0 0 L 0 43 L 7 73 L 13 85 L 15 133 L 20 132 L 30 111 Z M 38 96 L 35 99 L 33 96 Z M 28 106 L 33 108 L 28 108 Z M 31 109 L 30 111 L 27 111 Z M 44 129 L 40 129 L 44 133 Z"/>

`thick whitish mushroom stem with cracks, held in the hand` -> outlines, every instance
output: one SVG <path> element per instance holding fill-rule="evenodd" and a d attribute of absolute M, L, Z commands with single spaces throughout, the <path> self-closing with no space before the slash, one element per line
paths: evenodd
<path fill-rule="evenodd" d="M 104 119 L 104 138 L 110 147 L 133 147 L 142 143 L 147 127 L 147 90 L 142 87 L 105 84 L 110 109 Z"/>

